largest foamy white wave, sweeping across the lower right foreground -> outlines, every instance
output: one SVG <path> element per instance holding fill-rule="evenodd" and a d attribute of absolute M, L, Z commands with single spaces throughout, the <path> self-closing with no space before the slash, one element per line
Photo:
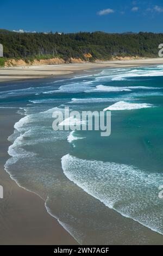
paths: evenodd
<path fill-rule="evenodd" d="M 163 234 L 162 204 L 158 198 L 162 174 L 142 172 L 126 164 L 78 159 L 70 154 L 62 157 L 61 164 L 67 178 L 85 192 L 121 215 Z"/>

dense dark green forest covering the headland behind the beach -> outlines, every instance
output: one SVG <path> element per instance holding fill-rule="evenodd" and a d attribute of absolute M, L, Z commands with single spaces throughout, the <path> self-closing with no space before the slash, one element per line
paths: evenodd
<path fill-rule="evenodd" d="M 90 61 L 108 60 L 111 57 L 139 56 L 158 57 L 158 46 L 163 43 L 163 34 L 124 33 L 16 33 L 0 29 L 0 42 L 4 46 L 5 58 L 23 58 L 27 62 L 36 59 L 60 57 Z M 3 59 L 1 60 L 3 62 Z"/>

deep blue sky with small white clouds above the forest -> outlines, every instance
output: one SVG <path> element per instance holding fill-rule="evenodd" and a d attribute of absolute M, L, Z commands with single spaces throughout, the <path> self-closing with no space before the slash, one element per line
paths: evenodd
<path fill-rule="evenodd" d="M 0 27 L 36 32 L 163 32 L 163 1 L 1 0 Z"/>

